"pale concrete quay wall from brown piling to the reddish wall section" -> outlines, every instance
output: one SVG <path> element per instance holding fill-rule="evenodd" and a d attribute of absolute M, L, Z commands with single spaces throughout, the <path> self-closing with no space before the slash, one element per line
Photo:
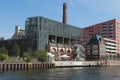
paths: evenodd
<path fill-rule="evenodd" d="M 106 66 L 105 61 L 53 61 L 55 67 L 92 67 Z"/>

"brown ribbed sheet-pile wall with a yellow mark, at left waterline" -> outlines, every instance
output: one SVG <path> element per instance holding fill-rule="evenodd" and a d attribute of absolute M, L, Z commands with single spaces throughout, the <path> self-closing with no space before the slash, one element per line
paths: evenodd
<path fill-rule="evenodd" d="M 29 70 L 54 68 L 53 63 L 0 63 L 0 70 Z"/>

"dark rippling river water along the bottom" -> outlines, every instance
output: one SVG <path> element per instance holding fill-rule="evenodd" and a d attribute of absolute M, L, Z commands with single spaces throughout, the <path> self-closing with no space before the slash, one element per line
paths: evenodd
<path fill-rule="evenodd" d="M 120 67 L 74 67 L 0 72 L 0 80 L 120 80 Z"/>

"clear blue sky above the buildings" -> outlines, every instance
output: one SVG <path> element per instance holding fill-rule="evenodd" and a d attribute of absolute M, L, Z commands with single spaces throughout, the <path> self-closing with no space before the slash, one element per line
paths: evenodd
<path fill-rule="evenodd" d="M 80 28 L 120 19 L 120 0 L 0 0 L 0 37 L 11 38 L 16 25 L 25 29 L 28 17 L 62 22 L 63 3 L 67 3 L 67 24 Z"/>

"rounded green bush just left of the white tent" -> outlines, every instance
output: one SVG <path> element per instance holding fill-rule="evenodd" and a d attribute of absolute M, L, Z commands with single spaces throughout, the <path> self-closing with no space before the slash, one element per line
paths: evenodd
<path fill-rule="evenodd" d="M 48 61 L 47 51 L 46 50 L 40 50 L 38 53 L 38 61 L 46 62 Z"/>

